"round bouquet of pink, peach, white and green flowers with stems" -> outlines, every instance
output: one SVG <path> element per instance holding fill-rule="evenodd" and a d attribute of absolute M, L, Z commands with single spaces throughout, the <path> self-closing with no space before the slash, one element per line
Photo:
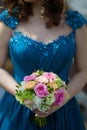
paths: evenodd
<path fill-rule="evenodd" d="M 34 110 L 46 112 L 52 105 L 61 105 L 66 98 L 69 98 L 67 87 L 64 81 L 53 72 L 37 70 L 31 75 L 25 76 L 17 86 L 16 100 L 21 104 Z M 34 117 L 36 124 L 45 126 L 46 118 Z"/>

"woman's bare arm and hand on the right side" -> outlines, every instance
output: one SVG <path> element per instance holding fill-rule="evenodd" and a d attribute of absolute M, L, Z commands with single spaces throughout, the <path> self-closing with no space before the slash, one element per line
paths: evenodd
<path fill-rule="evenodd" d="M 56 110 L 64 106 L 72 97 L 74 97 L 87 83 L 87 28 L 84 25 L 82 28 L 78 29 L 76 32 L 76 56 L 74 60 L 76 73 L 72 76 L 70 82 L 68 83 L 67 91 L 70 95 L 70 98 L 60 106 L 53 106 L 51 110 L 46 113 L 41 113 L 36 111 L 38 116 L 46 117 Z"/>

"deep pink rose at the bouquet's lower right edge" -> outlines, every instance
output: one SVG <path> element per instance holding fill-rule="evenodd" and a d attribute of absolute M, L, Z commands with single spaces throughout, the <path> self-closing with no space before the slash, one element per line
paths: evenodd
<path fill-rule="evenodd" d="M 65 89 L 61 88 L 61 89 L 57 90 L 54 93 L 54 96 L 55 96 L 55 102 L 54 102 L 54 104 L 55 105 L 60 105 L 61 103 L 63 103 L 63 101 L 65 99 Z"/>

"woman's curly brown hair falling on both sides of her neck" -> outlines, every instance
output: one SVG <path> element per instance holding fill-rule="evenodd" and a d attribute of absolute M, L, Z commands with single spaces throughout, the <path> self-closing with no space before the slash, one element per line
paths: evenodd
<path fill-rule="evenodd" d="M 3 0 L 4 6 L 12 16 L 16 16 L 20 21 L 27 21 L 29 16 L 33 16 L 33 3 L 24 0 Z M 46 17 L 46 27 L 57 26 L 61 20 L 64 9 L 64 0 L 41 0 L 43 17 Z M 14 11 L 16 9 L 16 11 Z"/>

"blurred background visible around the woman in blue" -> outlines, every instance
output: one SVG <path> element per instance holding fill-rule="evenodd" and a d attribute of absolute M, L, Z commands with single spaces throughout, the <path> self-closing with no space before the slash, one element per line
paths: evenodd
<path fill-rule="evenodd" d="M 67 0 L 70 9 L 79 11 L 87 19 L 87 0 Z M 0 12 L 4 9 L 2 8 L 3 2 L 0 0 Z M 6 63 L 6 70 L 12 75 L 13 74 L 13 65 L 11 63 L 10 57 Z M 74 68 L 73 68 L 74 69 Z M 0 87 L 0 99 L 4 93 L 4 90 Z M 87 85 L 84 86 L 84 89 L 76 95 L 76 98 L 79 102 L 82 116 L 84 119 L 84 124 L 87 130 Z"/>

